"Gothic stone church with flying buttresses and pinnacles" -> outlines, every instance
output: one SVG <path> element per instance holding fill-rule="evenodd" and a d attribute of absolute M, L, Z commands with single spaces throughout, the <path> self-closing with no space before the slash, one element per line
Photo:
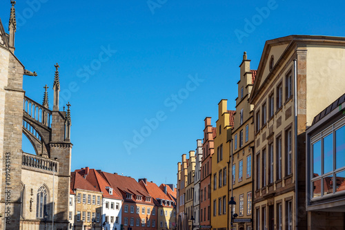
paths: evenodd
<path fill-rule="evenodd" d="M 0 19 L 0 229 L 68 229 L 70 193 L 70 104 L 59 110 L 59 65 L 55 65 L 54 102 L 47 86 L 43 103 L 23 90 L 26 70 L 14 55 L 15 1 L 9 34 Z M 22 134 L 35 153 L 22 151 Z"/>

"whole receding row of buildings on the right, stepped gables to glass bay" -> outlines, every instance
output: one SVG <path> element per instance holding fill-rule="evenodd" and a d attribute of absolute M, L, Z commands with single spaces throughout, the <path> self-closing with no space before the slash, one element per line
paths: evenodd
<path fill-rule="evenodd" d="M 344 37 L 266 41 L 257 70 L 244 52 L 235 109 L 178 163 L 177 226 L 345 229 L 344 70 Z"/>

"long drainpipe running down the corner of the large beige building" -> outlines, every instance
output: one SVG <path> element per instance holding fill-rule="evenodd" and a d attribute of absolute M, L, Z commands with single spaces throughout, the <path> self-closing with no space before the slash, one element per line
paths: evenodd
<path fill-rule="evenodd" d="M 298 230 L 298 176 L 297 176 L 297 59 L 293 60 L 294 104 L 295 104 L 295 229 Z"/>

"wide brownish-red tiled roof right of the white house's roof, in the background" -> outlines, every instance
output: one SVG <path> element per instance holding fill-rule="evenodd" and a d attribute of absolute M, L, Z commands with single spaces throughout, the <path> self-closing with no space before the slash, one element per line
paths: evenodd
<path fill-rule="evenodd" d="M 123 175 L 117 175 L 112 173 L 101 172 L 103 178 L 110 184 L 112 189 L 115 189 L 116 193 L 121 194 L 122 198 L 126 199 L 126 193 L 132 195 L 139 195 L 150 198 L 150 194 L 140 186 L 140 184 L 134 179 Z"/>

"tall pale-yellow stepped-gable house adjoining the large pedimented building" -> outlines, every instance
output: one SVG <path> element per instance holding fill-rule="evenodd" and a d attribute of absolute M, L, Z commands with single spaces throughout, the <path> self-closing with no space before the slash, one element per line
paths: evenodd
<path fill-rule="evenodd" d="M 236 98 L 236 113 L 234 128 L 232 131 L 233 157 L 231 160 L 231 186 L 230 197 L 233 196 L 237 203 L 233 207 L 238 222 L 233 223 L 233 227 L 239 230 L 250 229 L 252 222 L 247 222 L 252 218 L 253 202 L 253 146 L 254 146 L 254 125 L 253 106 L 248 99 L 253 88 L 256 70 L 250 70 L 250 60 L 247 59 L 246 52 L 240 67 L 240 79 L 238 85 L 238 97 Z M 233 191 L 231 192 L 231 189 Z M 231 209 L 231 207 L 230 207 Z M 229 218 L 231 213 L 229 211 Z"/>

